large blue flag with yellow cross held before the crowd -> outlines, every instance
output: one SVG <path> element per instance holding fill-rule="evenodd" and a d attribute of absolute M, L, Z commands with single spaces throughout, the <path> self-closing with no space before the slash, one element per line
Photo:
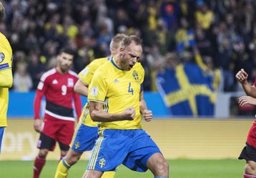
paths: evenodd
<path fill-rule="evenodd" d="M 195 64 L 179 64 L 157 74 L 157 88 L 170 115 L 210 116 L 214 114 L 212 84 Z"/>

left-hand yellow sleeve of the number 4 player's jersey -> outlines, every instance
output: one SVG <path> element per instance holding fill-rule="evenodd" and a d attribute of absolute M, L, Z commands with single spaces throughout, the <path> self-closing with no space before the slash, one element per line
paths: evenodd
<path fill-rule="evenodd" d="M 92 83 L 89 85 L 88 100 L 95 102 L 104 102 L 107 95 L 107 80 L 106 73 L 102 70 L 97 70 L 92 78 Z"/>

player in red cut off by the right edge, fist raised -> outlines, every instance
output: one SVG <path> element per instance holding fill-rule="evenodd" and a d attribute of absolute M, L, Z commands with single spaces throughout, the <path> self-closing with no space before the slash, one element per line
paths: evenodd
<path fill-rule="evenodd" d="M 239 105 L 256 105 L 256 79 L 255 83 L 250 85 L 247 81 L 248 74 L 244 69 L 241 69 L 235 75 L 235 78 L 242 84 L 242 88 L 244 88 L 245 93 L 247 94 L 246 96 L 239 98 Z M 256 177 L 256 120 L 250 128 L 247 135 L 246 146 L 242 150 L 238 159 L 246 160 L 244 178 Z"/>

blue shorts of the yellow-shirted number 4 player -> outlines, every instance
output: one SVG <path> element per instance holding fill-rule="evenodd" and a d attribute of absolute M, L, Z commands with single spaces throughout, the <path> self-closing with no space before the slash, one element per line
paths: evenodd
<path fill-rule="evenodd" d="M 160 152 L 142 130 L 101 130 L 87 169 L 113 171 L 119 164 L 137 172 L 147 171 L 147 160 Z"/>

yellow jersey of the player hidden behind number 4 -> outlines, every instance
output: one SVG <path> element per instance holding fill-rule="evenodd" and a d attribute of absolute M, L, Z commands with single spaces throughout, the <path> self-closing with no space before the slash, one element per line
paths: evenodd
<path fill-rule="evenodd" d="M 94 72 L 99 68 L 99 66 L 102 66 L 104 63 L 108 61 L 108 58 L 97 58 L 89 65 L 87 65 L 78 75 L 79 79 L 87 86 L 92 82 L 92 77 L 94 75 Z M 89 105 L 84 105 L 82 115 L 80 116 L 80 122 L 84 123 L 84 125 L 87 125 L 89 127 L 97 127 L 98 122 L 92 121 L 90 115 L 89 115 Z"/>

